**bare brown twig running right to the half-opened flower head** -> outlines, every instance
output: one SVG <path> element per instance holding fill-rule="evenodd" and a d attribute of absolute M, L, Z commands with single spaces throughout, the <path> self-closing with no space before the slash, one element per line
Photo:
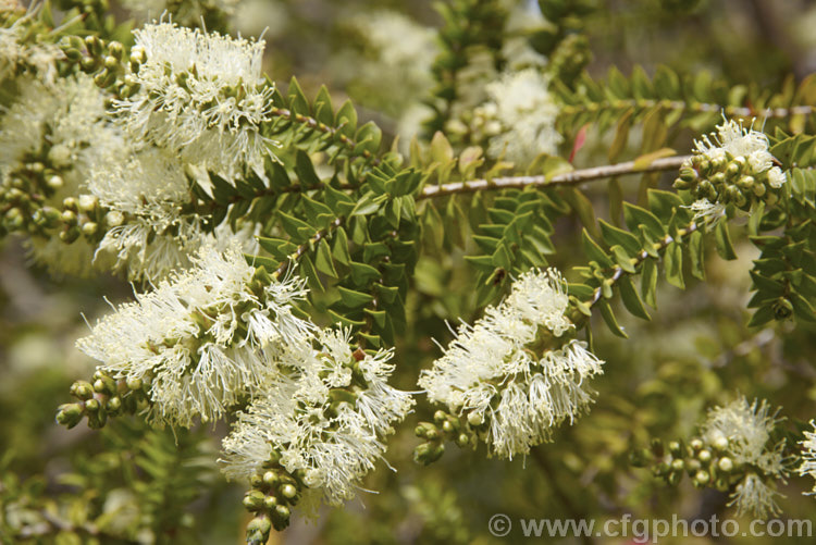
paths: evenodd
<path fill-rule="evenodd" d="M 475 193 L 485 189 L 509 189 L 523 188 L 527 186 L 557 186 L 557 185 L 576 185 L 591 179 L 603 179 L 611 176 L 622 176 L 626 174 L 641 174 L 645 172 L 660 172 L 679 169 L 684 161 L 691 156 L 666 157 L 655 159 L 647 165 L 636 164 L 636 161 L 627 161 L 626 163 L 608 164 L 603 166 L 593 166 L 591 169 L 581 169 L 577 171 L 556 174 L 555 176 L 512 176 L 497 177 L 492 179 L 473 179 L 470 182 L 454 182 L 436 186 L 426 186 L 417 199 L 428 199 L 433 197 L 444 197 L 458 193 Z"/>

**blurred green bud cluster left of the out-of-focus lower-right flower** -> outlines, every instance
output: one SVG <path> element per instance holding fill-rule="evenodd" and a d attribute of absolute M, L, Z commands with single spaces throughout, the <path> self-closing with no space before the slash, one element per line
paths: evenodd
<path fill-rule="evenodd" d="M 683 472 L 691 478 L 696 488 L 714 487 L 728 491 L 742 479 L 743 468 L 728 456 L 728 439 L 718 437 L 714 444 L 693 438 L 688 444 L 671 441 L 664 444 L 654 439 L 648 449 L 635 450 L 630 462 L 635 467 L 652 462 L 652 472 L 672 486 L 682 479 Z"/>

